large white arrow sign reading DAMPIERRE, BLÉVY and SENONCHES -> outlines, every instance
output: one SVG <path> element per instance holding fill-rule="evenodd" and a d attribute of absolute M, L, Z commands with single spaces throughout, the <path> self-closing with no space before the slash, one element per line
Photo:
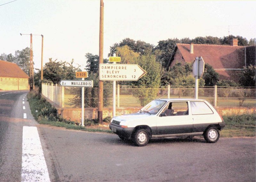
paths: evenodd
<path fill-rule="evenodd" d="M 138 64 L 100 64 L 100 80 L 139 80 L 147 72 Z"/>

